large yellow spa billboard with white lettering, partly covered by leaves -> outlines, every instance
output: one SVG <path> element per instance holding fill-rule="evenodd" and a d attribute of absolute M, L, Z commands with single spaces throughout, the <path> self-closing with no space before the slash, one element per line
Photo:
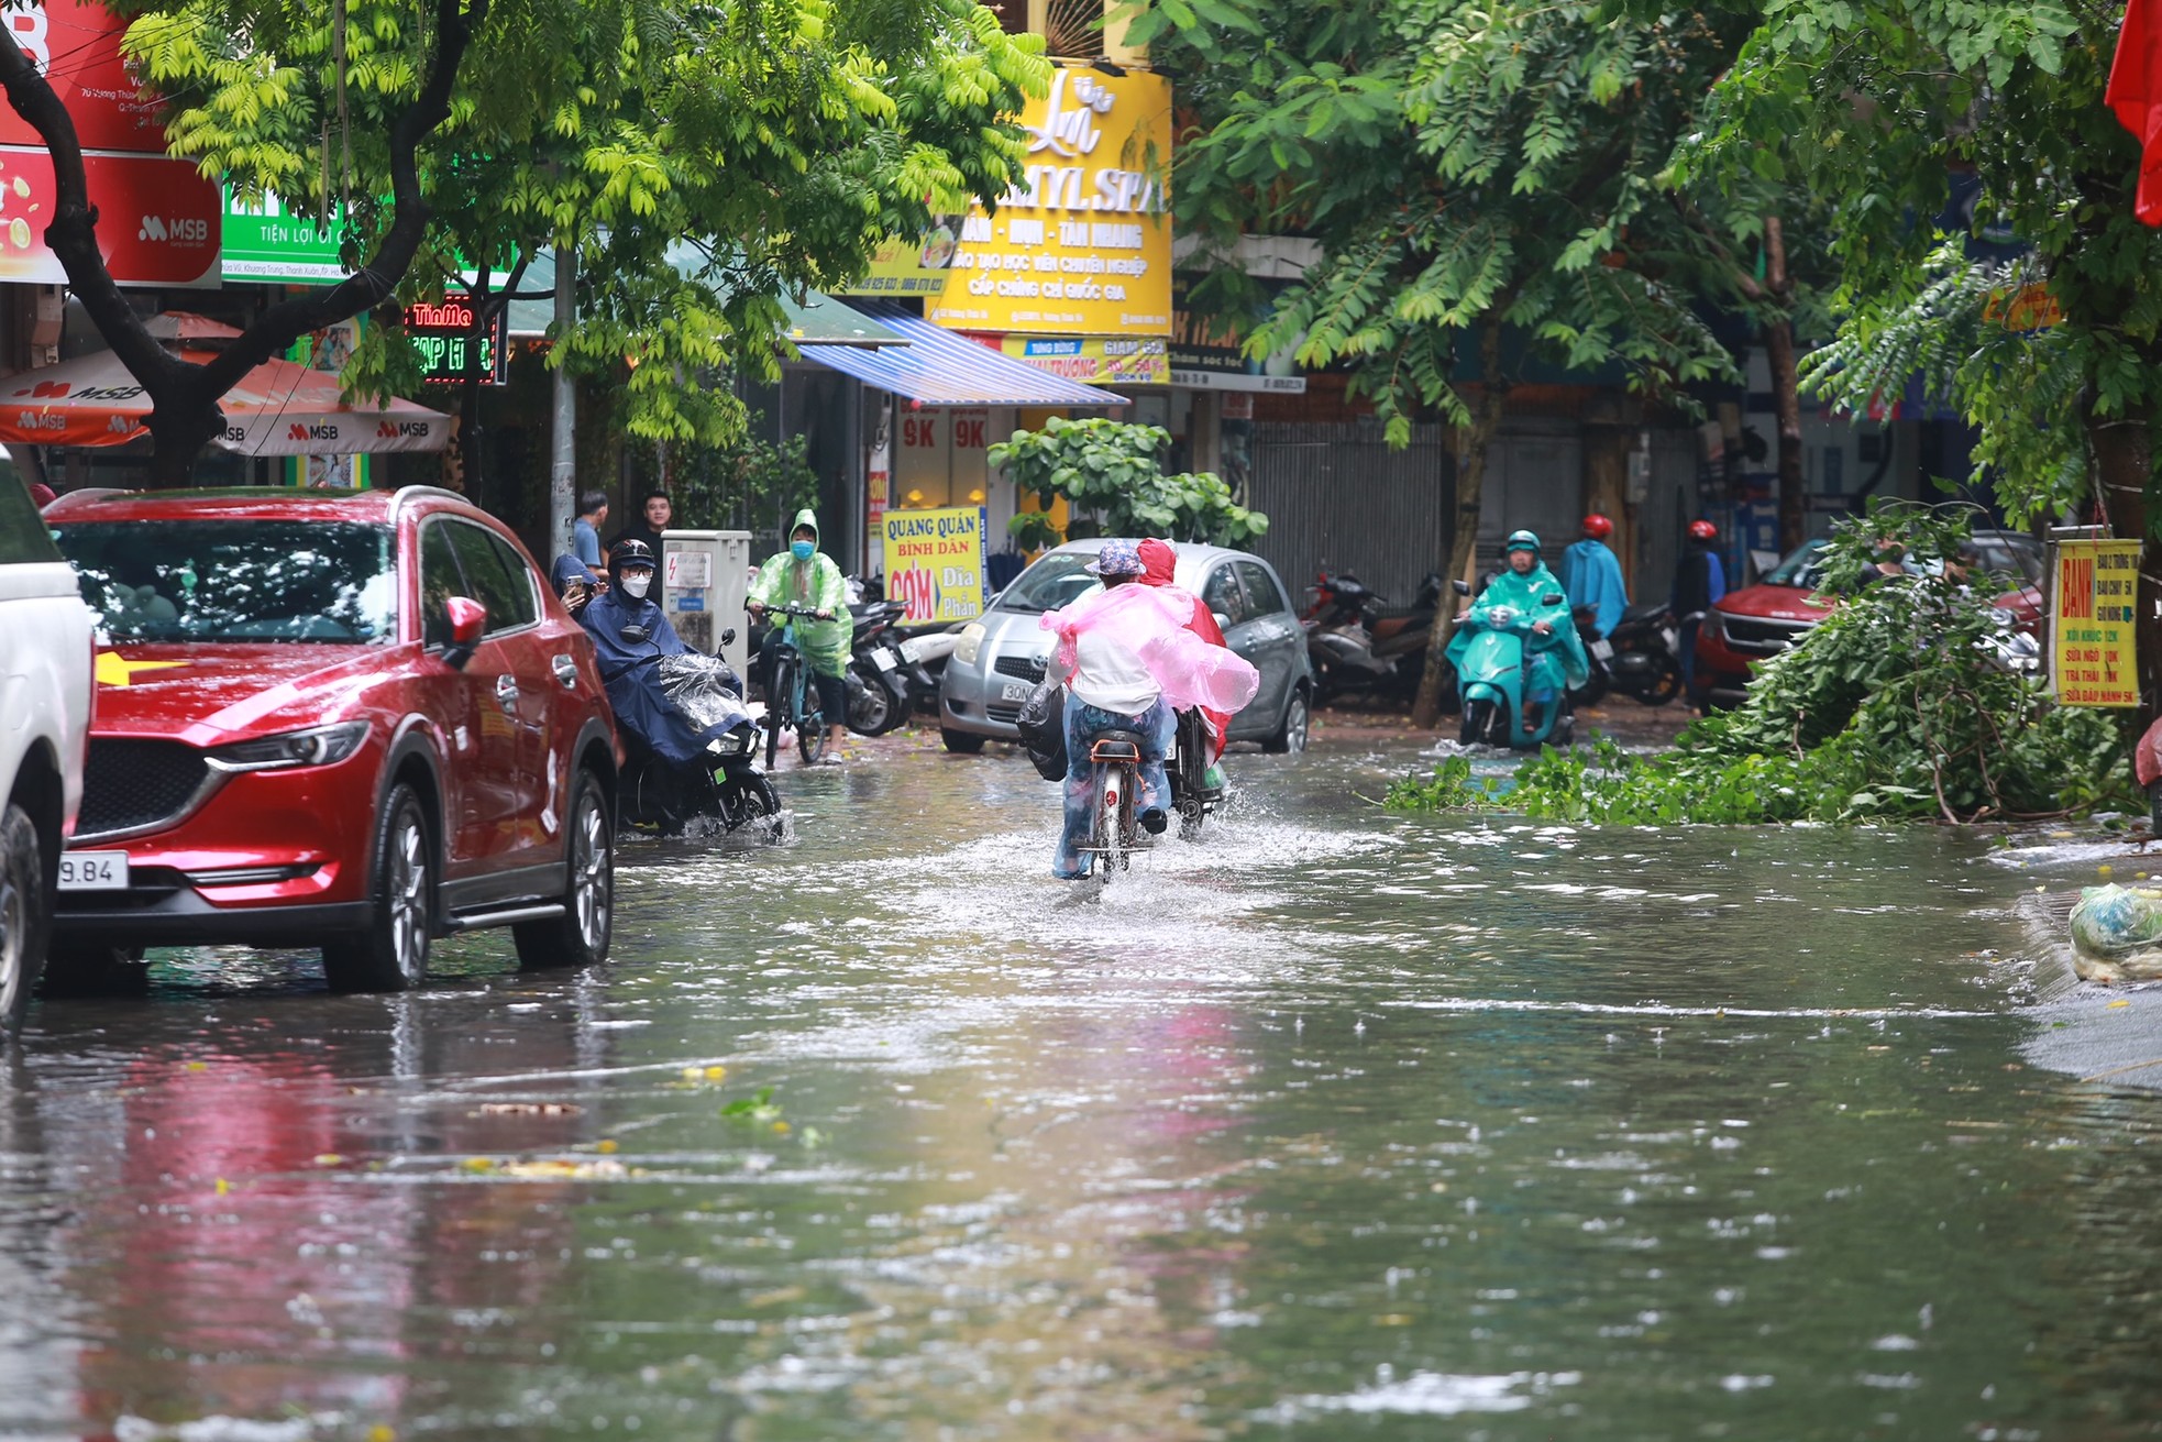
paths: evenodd
<path fill-rule="evenodd" d="M 889 242 L 837 294 L 919 294 L 956 331 L 1170 335 L 1172 84 L 1066 67 L 1020 112 L 1029 162 L 999 201 Z"/>

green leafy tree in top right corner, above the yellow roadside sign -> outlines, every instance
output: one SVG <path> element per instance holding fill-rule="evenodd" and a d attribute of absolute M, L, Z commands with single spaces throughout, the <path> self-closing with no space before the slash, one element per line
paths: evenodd
<path fill-rule="evenodd" d="M 2162 238 L 2132 214 L 2140 151 L 2101 104 L 2123 6 L 1773 0 L 1758 19 L 1682 169 L 1799 184 L 1827 203 L 1846 322 L 1812 372 L 1825 393 L 1866 404 L 1924 374 L 1980 430 L 1976 460 L 2019 515 L 2097 499 L 2119 536 L 2147 540 L 2151 716 Z M 1976 182 L 1970 216 L 1948 216 L 1954 173 Z M 2002 262 L 1987 242 L 2028 249 Z M 2006 305 L 2030 283 L 2063 316 L 2039 333 Z"/>

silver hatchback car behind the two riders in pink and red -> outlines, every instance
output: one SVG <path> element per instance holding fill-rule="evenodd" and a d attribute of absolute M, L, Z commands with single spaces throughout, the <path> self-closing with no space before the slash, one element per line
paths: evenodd
<path fill-rule="evenodd" d="M 969 625 L 947 662 L 938 694 L 938 733 L 947 750 L 977 752 L 984 742 L 1014 742 L 1020 703 L 1044 679 L 1051 631 L 1038 625 L 1096 588 L 1083 566 L 1103 540 L 1068 540 L 1038 556 L 999 592 L 984 618 Z M 1191 590 L 1224 627 L 1224 642 L 1260 670 L 1260 690 L 1230 718 L 1230 739 L 1263 750 L 1306 750 L 1314 672 L 1306 662 L 1306 629 L 1291 610 L 1269 562 L 1215 545 L 1174 545 L 1172 582 Z"/>

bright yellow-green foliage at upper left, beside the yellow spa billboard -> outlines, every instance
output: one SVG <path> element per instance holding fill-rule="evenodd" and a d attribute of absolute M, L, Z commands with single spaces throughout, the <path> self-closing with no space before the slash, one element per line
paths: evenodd
<path fill-rule="evenodd" d="M 175 156 L 337 216 L 361 262 L 389 223 L 389 123 L 426 71 L 415 0 L 147 0 L 128 54 L 169 108 Z M 973 0 L 491 0 L 452 119 L 422 147 L 435 212 L 400 296 L 467 290 L 556 246 L 579 318 L 553 363 L 614 376 L 631 435 L 722 443 L 726 385 L 778 376 L 776 296 L 858 277 L 891 233 L 1003 195 L 1027 156 L 1007 119 L 1049 84 L 1033 37 Z M 396 329 L 348 385 L 411 376 Z"/>

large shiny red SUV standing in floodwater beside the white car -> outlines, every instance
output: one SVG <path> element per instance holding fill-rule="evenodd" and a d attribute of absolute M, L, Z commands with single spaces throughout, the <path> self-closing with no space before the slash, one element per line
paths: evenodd
<path fill-rule="evenodd" d="M 592 642 L 448 491 L 76 493 L 45 510 L 99 616 L 52 990 L 145 945 L 322 947 L 417 986 L 508 925 L 590 964 L 614 910 L 616 733 Z"/>

